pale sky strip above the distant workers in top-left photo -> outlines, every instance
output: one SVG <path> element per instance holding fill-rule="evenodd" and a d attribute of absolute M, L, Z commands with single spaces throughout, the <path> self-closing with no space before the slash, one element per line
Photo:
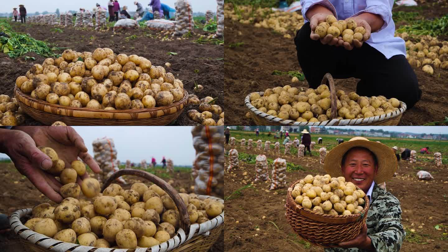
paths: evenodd
<path fill-rule="evenodd" d="M 174 9 L 174 3 L 176 1 L 177 0 L 161 0 L 160 2 L 169 5 Z M 151 8 L 151 6 L 148 6 L 151 0 L 143 0 L 139 2 L 143 5 L 143 8 Z M 50 0 L 20 0 L 17 2 L 4 0 L 2 1 L 2 4 L 0 4 L 0 13 L 13 12 L 13 8 L 17 8 L 18 10 L 19 4 L 25 5 L 27 13 L 35 13 L 36 11 L 39 11 L 40 13 L 43 11 L 55 12 L 57 8 L 63 13 L 69 10 L 78 10 L 81 7 L 91 10 L 95 7 L 96 3 L 107 8 L 108 0 L 76 0 L 73 2 Z M 134 0 L 118 0 L 118 3 L 120 4 L 120 7 L 124 5 L 128 6 L 129 11 L 135 11 L 137 9 L 137 6 L 134 5 Z M 193 7 L 193 12 L 205 13 L 207 10 L 216 12 L 217 4 L 215 0 L 190 0 L 190 4 Z"/>

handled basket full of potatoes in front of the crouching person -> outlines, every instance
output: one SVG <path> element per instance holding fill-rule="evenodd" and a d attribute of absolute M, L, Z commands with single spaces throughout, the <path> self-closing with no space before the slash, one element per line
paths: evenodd
<path fill-rule="evenodd" d="M 268 88 L 250 93 L 244 102 L 247 118 L 256 125 L 272 126 L 396 126 L 406 110 L 406 104 L 396 98 L 336 91 L 331 74 L 325 74 L 316 89 Z"/>

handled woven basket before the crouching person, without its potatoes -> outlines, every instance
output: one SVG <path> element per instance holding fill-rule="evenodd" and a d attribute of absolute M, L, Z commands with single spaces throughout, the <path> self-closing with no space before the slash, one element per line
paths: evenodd
<path fill-rule="evenodd" d="M 331 74 L 325 74 L 321 84 L 330 86 L 330 99 L 332 100 L 332 119 L 323 122 L 296 122 L 292 120 L 285 120 L 280 117 L 271 116 L 258 110 L 250 104 L 250 94 L 244 99 L 244 104 L 249 109 L 250 116 L 254 119 L 256 125 L 259 126 L 397 126 L 400 123 L 401 116 L 406 111 L 406 104 L 400 101 L 400 109 L 392 113 L 382 114 L 380 116 L 357 118 L 357 119 L 335 119 L 337 117 L 336 111 L 336 88 Z M 300 88 L 299 88 L 300 89 Z M 302 91 L 306 88 L 302 87 Z M 254 92 L 263 96 L 264 92 Z"/>

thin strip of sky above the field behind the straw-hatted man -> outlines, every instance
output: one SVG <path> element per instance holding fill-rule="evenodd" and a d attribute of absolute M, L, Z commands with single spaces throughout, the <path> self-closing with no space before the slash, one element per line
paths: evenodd
<path fill-rule="evenodd" d="M 448 134 L 447 126 L 328 126 L 328 128 L 356 130 L 382 129 L 384 131 L 411 132 L 419 134 Z"/>

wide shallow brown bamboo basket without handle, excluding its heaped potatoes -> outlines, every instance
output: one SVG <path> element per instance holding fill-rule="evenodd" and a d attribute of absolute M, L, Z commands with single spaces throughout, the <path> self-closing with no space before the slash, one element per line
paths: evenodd
<path fill-rule="evenodd" d="M 37 100 L 14 89 L 16 99 L 22 109 L 36 121 L 45 125 L 61 121 L 69 126 L 164 126 L 176 120 L 188 102 L 188 92 L 184 98 L 171 105 L 149 109 L 103 110 L 72 108 Z"/>

